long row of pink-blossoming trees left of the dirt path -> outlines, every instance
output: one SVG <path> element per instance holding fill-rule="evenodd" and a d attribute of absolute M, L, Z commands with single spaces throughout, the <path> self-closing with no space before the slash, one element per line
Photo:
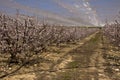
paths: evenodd
<path fill-rule="evenodd" d="M 10 63 L 23 63 L 47 46 L 70 43 L 96 32 L 97 28 L 65 27 L 42 24 L 34 18 L 0 14 L 0 54 Z"/>

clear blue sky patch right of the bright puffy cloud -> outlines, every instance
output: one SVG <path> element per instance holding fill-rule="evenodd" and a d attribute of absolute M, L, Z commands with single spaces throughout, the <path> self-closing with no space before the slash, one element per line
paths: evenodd
<path fill-rule="evenodd" d="M 105 20 L 114 20 L 120 11 L 120 0 L 91 0 L 90 4 L 97 10 L 98 16 Z"/>

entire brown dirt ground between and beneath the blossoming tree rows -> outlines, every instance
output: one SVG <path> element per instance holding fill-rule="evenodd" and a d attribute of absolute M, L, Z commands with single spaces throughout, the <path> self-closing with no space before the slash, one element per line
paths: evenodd
<path fill-rule="evenodd" d="M 101 32 L 76 43 L 52 45 L 35 58 L 18 70 L 18 65 L 1 63 L 0 76 L 4 70 L 14 73 L 0 80 L 120 80 L 120 51 Z"/>

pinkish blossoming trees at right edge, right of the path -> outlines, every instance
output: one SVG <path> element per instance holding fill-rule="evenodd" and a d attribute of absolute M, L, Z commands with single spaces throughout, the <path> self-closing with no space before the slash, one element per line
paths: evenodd
<path fill-rule="evenodd" d="M 106 24 L 104 26 L 104 34 L 115 46 L 120 47 L 120 22 L 115 20 L 113 24 Z"/>

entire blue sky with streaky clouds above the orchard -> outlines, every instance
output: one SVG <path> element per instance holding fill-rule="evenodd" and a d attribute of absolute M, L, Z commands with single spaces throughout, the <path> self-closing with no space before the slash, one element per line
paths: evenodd
<path fill-rule="evenodd" d="M 113 21 L 120 0 L 0 0 L 0 11 L 44 17 L 51 23 L 99 25 Z"/>

